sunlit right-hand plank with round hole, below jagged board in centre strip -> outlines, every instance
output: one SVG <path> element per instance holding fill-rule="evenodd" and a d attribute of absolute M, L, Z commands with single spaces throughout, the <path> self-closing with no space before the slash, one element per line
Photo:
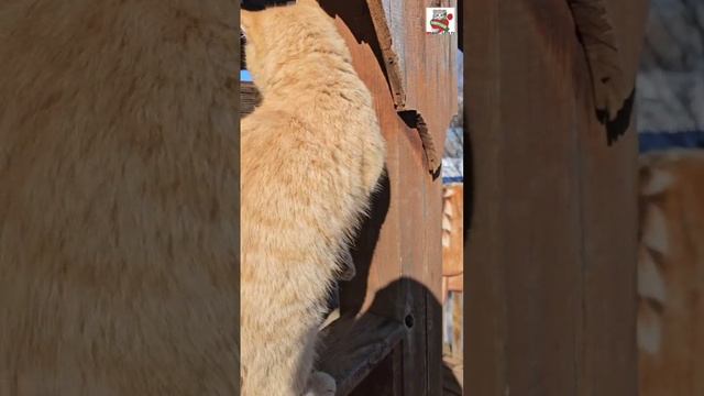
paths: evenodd
<path fill-rule="evenodd" d="M 441 204 L 432 199 L 440 196 L 425 169 L 424 157 L 414 147 L 421 145 L 417 133 L 409 133 L 399 140 L 399 166 L 402 169 L 420 172 L 403 172 L 400 174 L 399 206 L 405 213 L 406 227 L 400 228 L 402 271 L 406 290 L 404 301 L 404 320 L 409 336 L 404 343 L 404 395 L 438 395 L 441 392 L 439 365 L 430 361 L 441 362 L 442 311 L 440 296 L 432 294 L 433 280 L 440 280 L 440 274 L 433 279 L 432 266 L 442 268 L 441 253 L 431 256 L 435 245 L 441 241 Z M 419 155 L 420 154 L 420 155 Z M 433 201 L 438 204 L 432 210 Z M 413 218 L 410 217 L 413 216 Z M 415 226 L 414 226 L 415 224 Z M 433 262 L 433 258 L 436 260 Z M 418 280 L 411 282 L 410 279 Z M 437 334 L 437 336 L 436 336 Z M 438 356 L 432 355 L 439 353 Z M 422 373 L 424 375 L 419 375 Z"/>

